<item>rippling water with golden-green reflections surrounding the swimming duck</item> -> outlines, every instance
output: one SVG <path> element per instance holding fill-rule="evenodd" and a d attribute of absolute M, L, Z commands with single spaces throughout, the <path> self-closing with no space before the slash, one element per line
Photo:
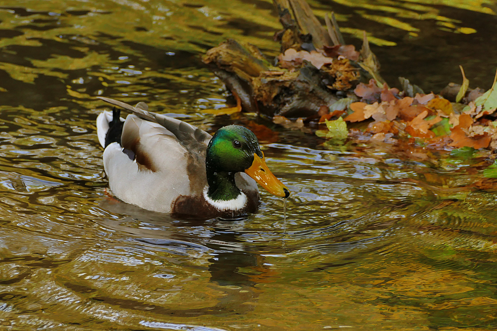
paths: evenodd
<path fill-rule="evenodd" d="M 365 28 L 397 44 L 373 45 L 391 85 L 403 74 L 437 92 L 459 82 L 459 64 L 471 86 L 492 82 L 491 1 L 311 4 L 318 14 L 332 7 L 351 33 Z M 488 153 L 465 160 L 387 143 L 323 144 L 263 119 L 201 113 L 235 101 L 199 54 L 226 37 L 276 54 L 270 2 L 1 6 L 2 330 L 497 329 Z M 477 32 L 455 33 L 461 27 Z M 235 221 L 113 199 L 97 95 L 145 101 L 209 132 L 269 126 L 278 136 L 264 155 L 291 196 L 261 192 L 258 212 Z"/>

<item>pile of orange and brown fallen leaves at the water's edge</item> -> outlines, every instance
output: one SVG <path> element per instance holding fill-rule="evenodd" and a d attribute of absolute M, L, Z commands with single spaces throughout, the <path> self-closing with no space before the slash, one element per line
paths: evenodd
<path fill-rule="evenodd" d="M 389 89 L 386 84 L 380 88 L 371 79 L 369 84 L 360 83 L 354 89 L 360 102 L 349 103 L 348 107 L 342 102 L 341 111 L 322 116 L 320 122 L 325 122 L 328 130 L 318 130 L 316 134 L 327 138 L 361 135 L 385 142 L 406 138 L 412 143 L 439 149 L 447 146 L 497 149 L 497 121 L 492 116 L 497 109 L 496 88 L 494 81 L 490 90 L 474 100 L 466 98 L 468 104 L 463 105 L 433 93 L 403 96 L 397 88 Z M 329 121 L 337 115 L 337 120 Z M 347 130 L 346 122 L 368 119 L 373 121 L 365 131 Z"/>

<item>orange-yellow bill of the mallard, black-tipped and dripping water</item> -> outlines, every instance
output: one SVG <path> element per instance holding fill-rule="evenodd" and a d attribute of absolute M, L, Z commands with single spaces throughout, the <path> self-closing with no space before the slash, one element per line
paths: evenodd
<path fill-rule="evenodd" d="M 290 196 L 290 191 L 288 191 L 286 186 L 283 185 L 267 167 L 264 153 L 262 153 L 262 158 L 255 153 L 253 154 L 252 165 L 250 168 L 245 169 L 245 173 L 252 177 L 270 194 L 284 198 Z"/>

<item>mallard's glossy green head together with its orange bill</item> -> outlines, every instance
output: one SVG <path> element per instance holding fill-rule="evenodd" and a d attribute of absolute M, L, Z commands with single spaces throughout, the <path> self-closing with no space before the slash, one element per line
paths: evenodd
<path fill-rule="evenodd" d="M 242 126 L 230 125 L 214 134 L 205 164 L 208 181 L 210 174 L 245 172 L 269 193 L 285 198 L 290 195 L 267 167 L 255 134 Z"/>

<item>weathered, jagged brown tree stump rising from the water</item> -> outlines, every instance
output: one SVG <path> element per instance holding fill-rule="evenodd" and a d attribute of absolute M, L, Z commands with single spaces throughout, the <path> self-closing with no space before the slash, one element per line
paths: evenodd
<path fill-rule="evenodd" d="M 242 109 L 267 116 L 316 116 L 352 93 L 359 81 L 384 80 L 364 34 L 361 52 L 343 45 L 339 27 L 323 27 L 305 0 L 274 0 L 283 27 L 274 35 L 281 54 L 269 61 L 255 46 L 233 39 L 207 51 L 202 61 L 242 100 Z M 271 65 L 274 64 L 274 65 Z"/>

